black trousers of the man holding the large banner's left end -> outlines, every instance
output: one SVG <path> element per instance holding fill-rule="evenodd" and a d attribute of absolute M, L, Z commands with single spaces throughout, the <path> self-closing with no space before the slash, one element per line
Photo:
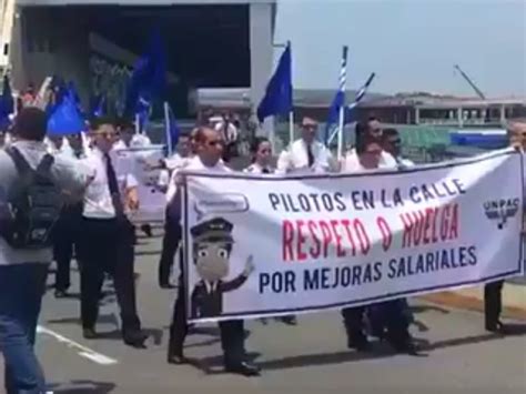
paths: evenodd
<path fill-rule="evenodd" d="M 182 257 L 180 259 L 181 275 L 179 276 L 178 299 L 173 305 L 172 323 L 170 325 L 169 355 L 181 355 L 184 340 L 188 334 L 185 286 L 182 275 Z M 244 322 L 231 320 L 219 323 L 221 331 L 221 346 L 226 364 L 239 363 L 245 358 Z"/>

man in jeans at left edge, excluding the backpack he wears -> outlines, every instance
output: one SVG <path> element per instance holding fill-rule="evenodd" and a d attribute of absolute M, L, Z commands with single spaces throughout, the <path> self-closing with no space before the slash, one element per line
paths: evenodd
<path fill-rule="evenodd" d="M 37 108 L 22 109 L 16 119 L 17 141 L 11 148 L 31 169 L 37 169 L 47 156 L 45 129 L 47 115 Z M 71 201 L 82 199 L 89 179 L 77 170 L 74 163 L 57 156 L 50 175 Z M 0 202 L 3 206 L 9 202 L 13 188 L 19 186 L 19 179 L 12 158 L 7 151 L 0 151 Z M 16 249 L 0 238 L 0 352 L 9 366 L 4 376 L 7 393 L 45 392 L 33 344 L 51 261 L 51 247 Z"/>

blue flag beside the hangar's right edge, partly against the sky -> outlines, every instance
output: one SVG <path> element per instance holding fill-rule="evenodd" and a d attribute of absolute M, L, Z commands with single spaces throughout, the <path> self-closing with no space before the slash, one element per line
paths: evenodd
<path fill-rule="evenodd" d="M 292 54 L 291 44 L 287 44 L 257 107 L 257 119 L 263 122 L 267 117 L 286 114 L 292 110 Z"/>

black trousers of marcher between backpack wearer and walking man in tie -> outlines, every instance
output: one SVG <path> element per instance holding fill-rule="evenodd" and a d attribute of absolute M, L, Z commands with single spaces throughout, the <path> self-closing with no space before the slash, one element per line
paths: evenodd
<path fill-rule="evenodd" d="M 73 251 L 77 253 L 82 204 L 65 208 L 57 221 L 53 232 L 53 255 L 57 262 L 54 287 L 67 291 L 70 287 L 70 269 Z"/>

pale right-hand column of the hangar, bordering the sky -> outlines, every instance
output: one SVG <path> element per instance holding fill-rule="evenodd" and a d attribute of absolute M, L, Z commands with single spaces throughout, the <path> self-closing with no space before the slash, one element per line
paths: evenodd
<path fill-rule="evenodd" d="M 275 4 L 250 4 L 251 102 L 255 113 L 273 71 Z M 273 135 L 273 124 L 265 121 L 261 134 Z"/>

